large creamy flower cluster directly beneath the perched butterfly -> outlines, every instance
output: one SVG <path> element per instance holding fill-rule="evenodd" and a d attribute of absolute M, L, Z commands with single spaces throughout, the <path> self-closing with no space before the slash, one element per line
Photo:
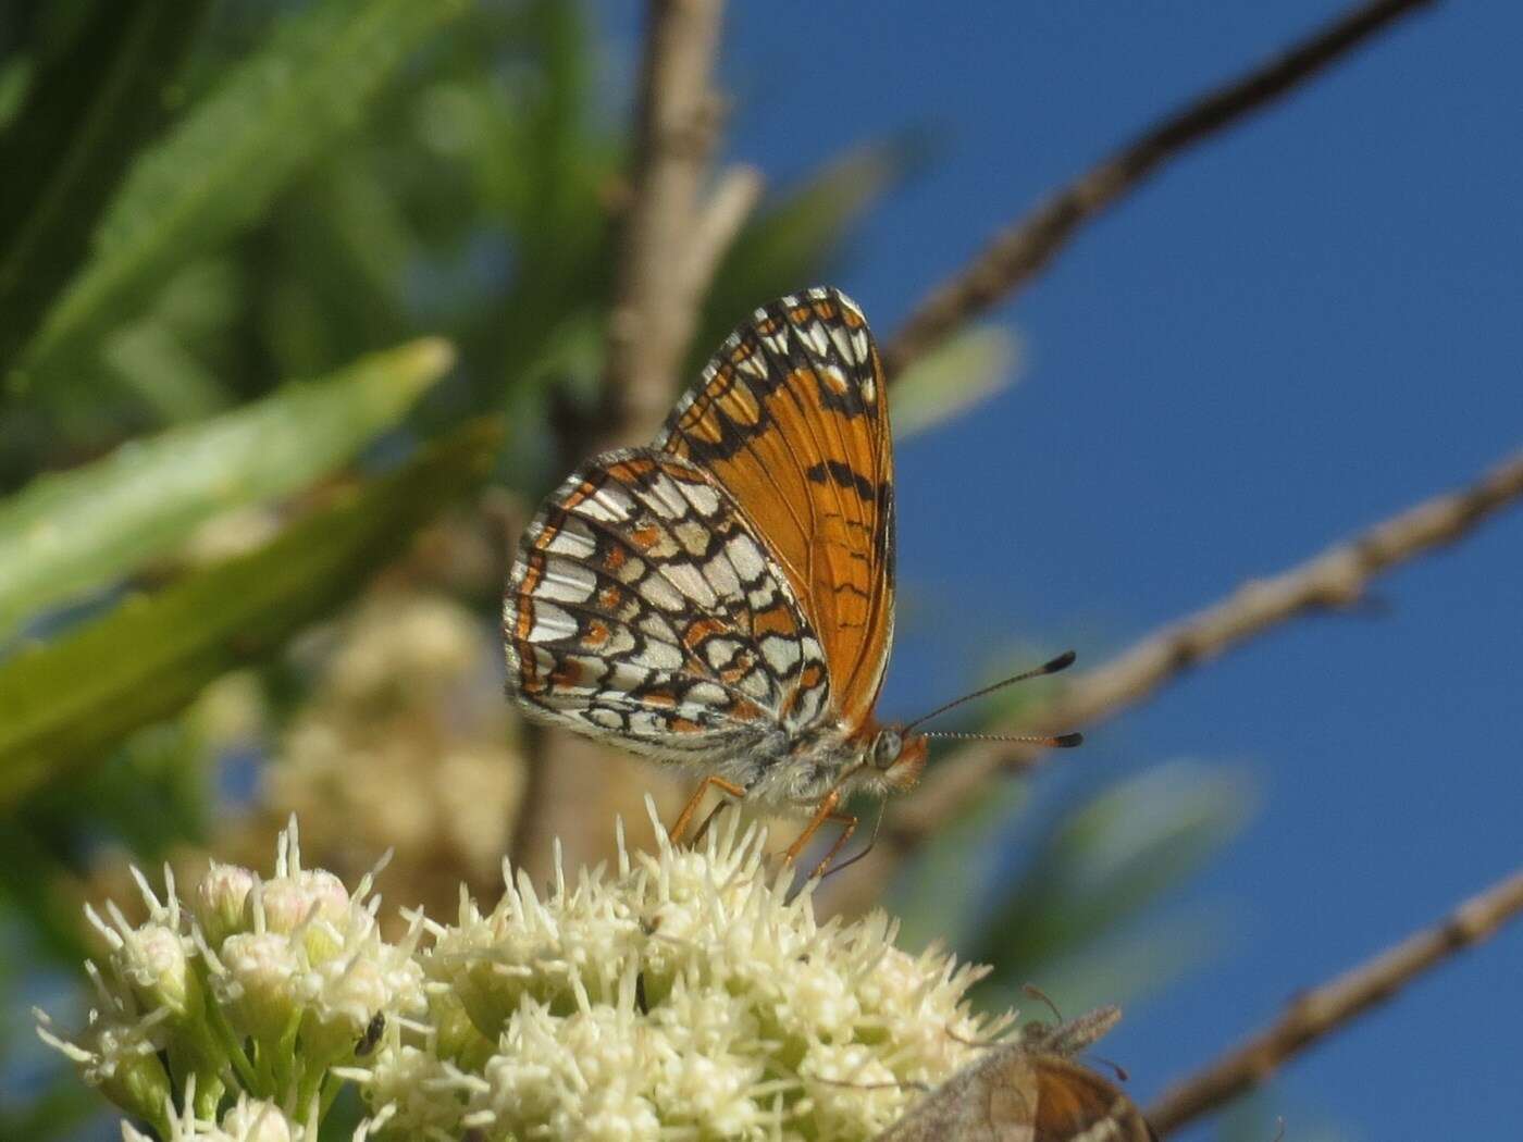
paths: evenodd
<path fill-rule="evenodd" d="M 699 850 L 509 877 L 490 912 L 428 923 L 431 1003 L 364 1069 L 385 1136 L 486 1139 L 873 1137 L 1008 1020 L 972 1016 L 979 971 L 892 946 L 874 914 L 816 924 L 739 818 Z M 559 863 L 559 862 L 557 862 Z"/>

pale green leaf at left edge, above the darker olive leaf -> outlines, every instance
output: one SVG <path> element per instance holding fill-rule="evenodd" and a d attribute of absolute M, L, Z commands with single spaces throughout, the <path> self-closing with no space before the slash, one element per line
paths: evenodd
<path fill-rule="evenodd" d="M 129 574 L 219 512 L 289 493 L 343 464 L 451 361 L 446 343 L 414 341 L 35 480 L 0 502 L 0 635 L 43 606 Z"/>

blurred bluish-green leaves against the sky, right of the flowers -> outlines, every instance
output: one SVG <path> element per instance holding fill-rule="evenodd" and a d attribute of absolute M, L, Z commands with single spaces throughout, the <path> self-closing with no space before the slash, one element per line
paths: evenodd
<path fill-rule="evenodd" d="M 987 1010 L 1030 1006 L 1025 984 L 1071 1010 L 1124 1002 L 1220 946 L 1217 917 L 1153 920 L 1142 930 L 1132 921 L 1217 853 L 1249 804 L 1240 775 L 1171 763 L 1046 810 L 1042 825 L 1027 783 L 1005 783 L 934 837 L 892 908 L 909 947 L 950 939 L 993 965 L 979 990 Z"/>

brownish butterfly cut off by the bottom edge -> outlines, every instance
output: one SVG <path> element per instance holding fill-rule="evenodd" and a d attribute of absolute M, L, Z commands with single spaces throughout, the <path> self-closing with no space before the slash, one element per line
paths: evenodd
<path fill-rule="evenodd" d="M 1057 1028 L 1028 1025 L 915 1102 L 874 1142 L 1157 1142 L 1136 1104 L 1071 1055 L 1121 1017 L 1100 1008 Z"/>

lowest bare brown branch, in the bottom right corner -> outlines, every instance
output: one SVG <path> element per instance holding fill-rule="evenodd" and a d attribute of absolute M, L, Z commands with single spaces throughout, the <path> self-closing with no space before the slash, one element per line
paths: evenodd
<path fill-rule="evenodd" d="M 1438 927 L 1418 932 L 1352 971 L 1304 993 L 1272 1026 L 1167 1090 L 1147 1112 L 1159 1134 L 1215 1110 L 1266 1081 L 1281 1063 L 1386 1002 L 1456 952 L 1486 939 L 1523 912 L 1523 871 L 1461 904 Z"/>

